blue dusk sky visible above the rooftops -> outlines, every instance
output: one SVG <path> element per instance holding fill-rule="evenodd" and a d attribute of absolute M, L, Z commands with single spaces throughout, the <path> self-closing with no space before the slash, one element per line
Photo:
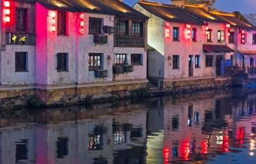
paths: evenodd
<path fill-rule="evenodd" d="M 139 0 L 123 0 L 124 3 L 130 6 L 132 6 L 138 1 Z M 154 2 L 157 2 L 157 0 L 155 0 Z M 171 4 L 170 0 L 159 0 L 158 2 Z M 256 13 L 256 1 L 255 0 L 216 0 L 215 8 L 217 10 L 223 10 L 224 12 L 239 11 L 242 14 Z"/>

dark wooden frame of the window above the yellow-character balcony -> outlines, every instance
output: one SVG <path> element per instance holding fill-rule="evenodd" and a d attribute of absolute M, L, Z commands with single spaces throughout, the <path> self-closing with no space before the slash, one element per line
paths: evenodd
<path fill-rule="evenodd" d="M 18 12 L 18 18 L 17 18 L 17 12 Z M 21 18 L 20 18 L 20 13 L 23 12 L 24 13 L 24 18 L 23 18 L 23 24 L 24 24 L 24 27 L 20 27 L 20 21 L 21 21 Z M 15 9 L 15 19 L 16 19 L 16 32 L 26 32 L 27 31 L 27 9 L 24 9 L 24 8 L 19 8 L 19 7 L 16 7 Z"/>

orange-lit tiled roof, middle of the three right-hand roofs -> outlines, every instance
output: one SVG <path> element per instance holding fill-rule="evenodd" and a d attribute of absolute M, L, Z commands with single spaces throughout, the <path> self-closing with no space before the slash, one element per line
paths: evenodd
<path fill-rule="evenodd" d="M 186 12 L 190 13 L 191 15 L 194 15 L 197 18 L 201 19 L 202 21 L 228 23 L 227 21 L 219 18 L 218 16 L 216 16 L 200 7 L 185 6 L 184 10 Z"/>

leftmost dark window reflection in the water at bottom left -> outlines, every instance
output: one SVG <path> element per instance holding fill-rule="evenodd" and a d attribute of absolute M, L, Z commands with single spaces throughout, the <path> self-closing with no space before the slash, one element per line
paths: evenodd
<path fill-rule="evenodd" d="M 19 160 L 27 160 L 27 140 L 21 140 L 20 142 L 15 142 L 16 144 L 16 162 Z"/>

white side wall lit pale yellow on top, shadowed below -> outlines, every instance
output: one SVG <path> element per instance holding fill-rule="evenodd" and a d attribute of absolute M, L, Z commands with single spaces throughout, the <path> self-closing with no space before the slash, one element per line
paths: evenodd
<path fill-rule="evenodd" d="M 155 50 L 148 51 L 148 75 L 149 77 L 164 77 L 163 65 L 165 56 L 165 21 L 144 10 L 139 4 L 133 9 L 138 10 L 149 17 L 148 21 L 148 44 Z"/>

